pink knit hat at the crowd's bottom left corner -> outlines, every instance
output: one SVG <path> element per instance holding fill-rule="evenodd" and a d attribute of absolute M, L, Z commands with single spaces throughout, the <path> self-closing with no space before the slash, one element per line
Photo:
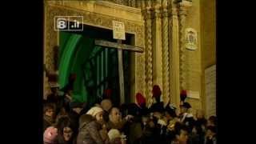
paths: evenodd
<path fill-rule="evenodd" d="M 54 126 L 48 127 L 43 134 L 43 142 L 57 143 L 58 130 Z"/>

